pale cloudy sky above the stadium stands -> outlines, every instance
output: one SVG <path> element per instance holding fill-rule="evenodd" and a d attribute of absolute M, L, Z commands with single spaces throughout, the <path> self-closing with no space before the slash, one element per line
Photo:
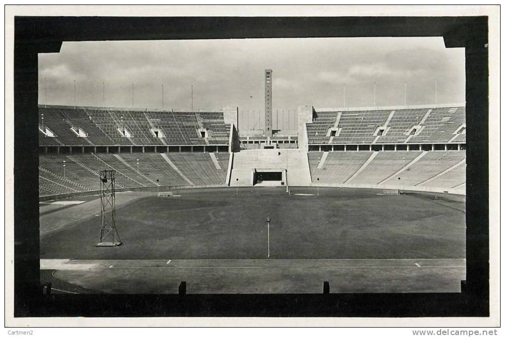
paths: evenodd
<path fill-rule="evenodd" d="M 304 38 L 65 42 L 39 55 L 39 103 L 218 110 L 264 109 L 273 69 L 273 109 L 465 101 L 463 48 L 442 38 Z M 44 78 L 46 80 L 44 81 Z M 44 91 L 46 82 L 46 91 Z M 46 92 L 46 96 L 44 92 Z"/>

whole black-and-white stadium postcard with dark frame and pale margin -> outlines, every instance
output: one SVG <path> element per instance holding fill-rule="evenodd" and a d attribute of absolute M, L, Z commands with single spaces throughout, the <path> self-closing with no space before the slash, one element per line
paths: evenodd
<path fill-rule="evenodd" d="M 490 317 L 499 7 L 116 9 L 13 17 L 6 326 Z"/>

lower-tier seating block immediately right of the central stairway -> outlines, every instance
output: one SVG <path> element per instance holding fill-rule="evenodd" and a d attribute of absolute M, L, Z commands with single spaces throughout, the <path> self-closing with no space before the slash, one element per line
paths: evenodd
<path fill-rule="evenodd" d="M 310 153 L 309 153 L 310 154 Z M 315 163 L 317 157 L 309 156 L 309 166 L 311 167 L 312 181 L 320 183 L 342 184 L 367 161 L 372 152 L 328 152 L 328 157 L 323 167 L 317 167 L 319 160 Z"/>

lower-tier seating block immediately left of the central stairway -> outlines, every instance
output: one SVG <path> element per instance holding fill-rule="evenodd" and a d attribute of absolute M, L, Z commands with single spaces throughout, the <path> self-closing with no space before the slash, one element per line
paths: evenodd
<path fill-rule="evenodd" d="M 195 185 L 223 185 L 226 181 L 228 166 L 217 170 L 209 153 L 168 153 L 168 157 Z"/>

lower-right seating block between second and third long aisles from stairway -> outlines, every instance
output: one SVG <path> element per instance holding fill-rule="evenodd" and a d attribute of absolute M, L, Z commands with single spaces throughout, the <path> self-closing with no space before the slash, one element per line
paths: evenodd
<path fill-rule="evenodd" d="M 466 151 L 430 151 L 386 184 L 395 186 L 416 186 L 447 170 L 466 158 Z"/>

